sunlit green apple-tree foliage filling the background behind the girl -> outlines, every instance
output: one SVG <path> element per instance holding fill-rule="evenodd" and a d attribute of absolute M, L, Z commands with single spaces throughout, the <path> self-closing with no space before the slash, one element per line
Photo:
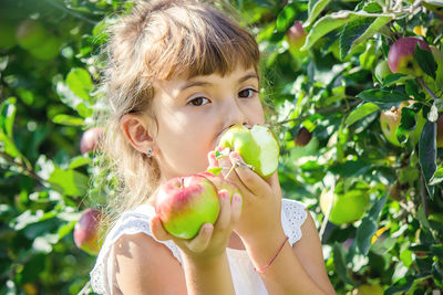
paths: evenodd
<path fill-rule="evenodd" d="M 443 15 L 432 6 L 439 1 L 229 3 L 264 55 L 269 87 L 262 95 L 275 109 L 284 196 L 309 206 L 338 294 L 367 285 L 385 294 L 443 288 L 442 149 L 433 123 L 443 109 L 443 62 L 435 66 L 420 52 L 423 78 L 374 77 L 401 36 L 423 34 L 442 49 Z M 92 167 L 100 156 L 81 155 L 79 143 L 93 125 L 103 29 L 128 7 L 117 0 L 1 1 L 1 294 L 76 294 L 85 285 L 82 292 L 89 292 L 95 257 L 74 245 L 72 232 L 81 212 L 101 208 L 112 188 L 90 186 L 104 178 Z M 54 54 L 50 46 L 39 54 L 16 44 L 27 19 L 44 28 L 38 48 L 52 40 Z M 307 52 L 288 42 L 296 20 L 309 32 Z M 403 145 L 394 146 L 381 131 L 380 113 L 409 99 L 415 104 L 402 112 Z M 414 139 L 420 116 L 429 123 Z M 312 139 L 298 147 L 293 139 L 302 127 Z M 319 197 L 334 187 L 369 196 L 362 220 L 328 222 Z"/>

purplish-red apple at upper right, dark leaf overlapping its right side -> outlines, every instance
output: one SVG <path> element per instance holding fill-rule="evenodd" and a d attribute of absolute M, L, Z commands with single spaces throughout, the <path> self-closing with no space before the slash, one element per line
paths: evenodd
<path fill-rule="evenodd" d="M 392 73 L 421 76 L 423 71 L 414 60 L 416 43 L 422 50 L 431 51 L 430 46 L 423 40 L 415 36 L 399 39 L 389 50 L 388 64 Z"/>

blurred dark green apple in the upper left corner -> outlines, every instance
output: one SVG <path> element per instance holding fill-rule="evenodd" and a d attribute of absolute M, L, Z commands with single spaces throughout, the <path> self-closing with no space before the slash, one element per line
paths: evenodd
<path fill-rule="evenodd" d="M 34 20 L 22 21 L 16 34 L 19 45 L 25 50 L 39 48 L 47 41 L 47 31 L 40 22 Z"/>

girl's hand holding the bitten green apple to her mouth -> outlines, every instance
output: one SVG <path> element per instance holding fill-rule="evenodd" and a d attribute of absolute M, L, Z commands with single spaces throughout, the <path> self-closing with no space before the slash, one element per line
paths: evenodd
<path fill-rule="evenodd" d="M 244 198 L 244 208 L 235 232 L 246 242 L 266 241 L 276 233 L 282 233 L 281 189 L 278 173 L 275 172 L 267 180 L 262 179 L 246 165 L 236 165 L 244 162 L 236 151 L 231 151 L 229 156 L 218 160 L 214 152 L 209 152 L 208 159 L 209 168 L 223 168 L 222 173 L 225 177 L 233 165 L 236 166 L 228 179 L 239 187 Z"/>

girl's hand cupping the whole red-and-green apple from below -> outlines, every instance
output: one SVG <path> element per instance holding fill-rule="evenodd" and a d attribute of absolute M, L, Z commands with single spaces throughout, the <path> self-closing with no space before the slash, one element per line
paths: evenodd
<path fill-rule="evenodd" d="M 222 256 L 225 253 L 233 229 L 240 218 L 243 199 L 240 194 L 236 193 L 230 201 L 230 194 L 227 190 L 220 190 L 218 197 L 220 212 L 214 225 L 205 223 L 194 239 L 185 240 L 167 233 L 159 218 L 154 217 L 151 220 L 151 231 L 155 239 L 158 241 L 173 240 L 183 253 L 194 262 Z"/>

